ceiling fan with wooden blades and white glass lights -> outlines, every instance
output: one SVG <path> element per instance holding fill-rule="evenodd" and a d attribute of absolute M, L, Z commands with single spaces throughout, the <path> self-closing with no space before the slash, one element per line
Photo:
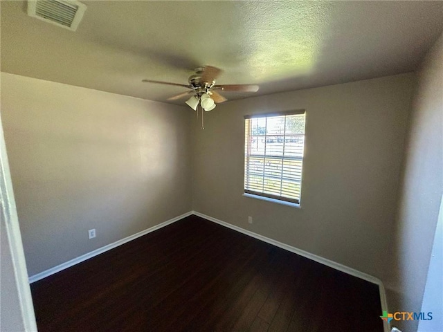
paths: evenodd
<path fill-rule="evenodd" d="M 168 100 L 177 100 L 179 98 L 183 98 L 192 94 L 191 98 L 186 101 L 186 104 L 188 104 L 188 106 L 194 111 L 197 111 L 197 107 L 199 106 L 199 104 L 201 105 L 201 108 L 205 111 L 212 111 L 213 109 L 215 109 L 216 104 L 226 102 L 227 99 L 224 98 L 224 96 L 222 96 L 217 91 L 258 91 L 258 85 L 251 84 L 215 85 L 215 80 L 217 79 L 217 77 L 219 77 L 221 73 L 223 73 L 223 71 L 219 68 L 213 66 L 204 66 L 195 68 L 195 73 L 190 75 L 188 79 L 188 85 L 154 80 L 142 80 L 142 82 L 182 86 L 183 88 L 190 89 L 190 91 L 174 95 L 168 98 Z"/>

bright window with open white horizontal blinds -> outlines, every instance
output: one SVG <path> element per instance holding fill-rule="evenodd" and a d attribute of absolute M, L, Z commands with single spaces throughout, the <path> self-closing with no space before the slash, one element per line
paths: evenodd
<path fill-rule="evenodd" d="M 305 111 L 244 119 L 244 193 L 300 204 Z"/>

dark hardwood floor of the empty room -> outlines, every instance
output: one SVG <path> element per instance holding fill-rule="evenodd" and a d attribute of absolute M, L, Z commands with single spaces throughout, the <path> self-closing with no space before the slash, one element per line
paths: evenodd
<path fill-rule="evenodd" d="M 378 286 L 189 216 L 31 284 L 39 331 L 383 331 Z"/>

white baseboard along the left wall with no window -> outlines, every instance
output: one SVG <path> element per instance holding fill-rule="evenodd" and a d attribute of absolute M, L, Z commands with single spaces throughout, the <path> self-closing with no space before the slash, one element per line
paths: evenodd
<path fill-rule="evenodd" d="M 179 221 L 180 219 L 183 219 L 186 216 L 190 216 L 191 214 L 192 214 L 192 211 L 186 212 L 184 214 L 181 214 L 181 216 L 176 216 L 175 218 L 169 219 L 168 221 L 165 221 L 163 223 L 159 223 L 159 225 L 155 225 L 151 228 L 147 228 L 146 230 L 142 230 L 141 232 L 138 232 L 136 234 L 132 234 L 129 237 L 125 237 L 125 239 L 121 239 L 121 240 L 118 240 L 114 243 L 110 243 L 107 246 L 104 246 L 102 248 L 98 248 L 96 250 L 88 252 L 87 254 L 84 254 L 84 255 L 74 258 L 74 259 L 71 259 L 70 261 L 66 261 L 65 263 L 54 266 L 53 268 L 49 268 L 48 270 L 44 270 L 41 273 L 37 273 L 36 275 L 29 277 L 28 278 L 29 283 L 32 284 L 33 282 L 37 282 L 43 278 L 53 275 L 54 273 L 64 270 L 65 268 L 70 268 L 71 266 L 74 266 L 75 264 L 79 264 L 82 261 L 86 261 L 87 259 L 90 259 L 94 256 L 100 255 L 102 252 L 114 249 L 118 246 L 121 246 L 122 244 L 125 244 L 125 243 L 132 241 L 134 239 L 137 239 L 138 237 L 143 237 L 143 235 L 145 235 L 147 233 L 154 232 L 154 230 L 158 230 L 159 228 L 163 228 L 167 225 L 170 225 L 171 223 Z"/>

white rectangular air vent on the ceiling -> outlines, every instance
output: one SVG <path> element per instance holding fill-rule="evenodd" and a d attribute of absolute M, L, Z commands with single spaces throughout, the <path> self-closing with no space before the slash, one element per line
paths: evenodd
<path fill-rule="evenodd" d="M 48 23 L 77 30 L 86 5 L 71 0 L 28 0 L 28 15 Z"/>

